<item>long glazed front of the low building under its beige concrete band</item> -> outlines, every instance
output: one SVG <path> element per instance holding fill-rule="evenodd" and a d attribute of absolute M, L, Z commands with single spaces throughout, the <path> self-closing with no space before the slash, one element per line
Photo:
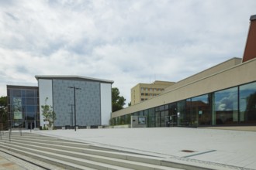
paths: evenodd
<path fill-rule="evenodd" d="M 148 128 L 256 124 L 256 82 L 113 117 L 112 123 L 130 124 L 131 115 L 147 116 Z"/>

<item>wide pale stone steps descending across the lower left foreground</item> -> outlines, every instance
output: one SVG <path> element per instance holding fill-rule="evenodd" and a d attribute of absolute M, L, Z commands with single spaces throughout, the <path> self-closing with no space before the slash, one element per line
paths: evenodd
<path fill-rule="evenodd" d="M 5 131 L 1 135 L 0 151 L 15 153 L 22 159 L 26 157 L 27 162 L 44 169 L 209 169 L 33 133 L 12 132 L 10 135 Z M 51 168 L 50 165 L 56 167 Z"/>

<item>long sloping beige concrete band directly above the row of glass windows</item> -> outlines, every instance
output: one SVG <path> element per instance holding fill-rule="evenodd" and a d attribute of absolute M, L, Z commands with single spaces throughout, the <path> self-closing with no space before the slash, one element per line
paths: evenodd
<path fill-rule="evenodd" d="M 189 83 L 181 83 L 181 86 L 171 88 L 168 92 L 162 93 L 159 97 L 154 97 L 150 100 L 144 101 L 140 104 L 135 104 L 131 107 L 127 107 L 123 110 L 118 110 L 112 113 L 112 117 L 119 117 L 125 114 L 137 112 L 139 110 L 146 110 L 151 107 L 161 106 L 163 104 L 169 104 L 178 100 L 184 100 L 189 97 L 196 97 L 205 93 L 211 93 L 217 90 L 223 90 L 229 87 L 234 87 L 244 83 L 250 83 L 256 81 L 256 59 L 251 59 L 245 63 L 239 63 L 240 59 L 231 59 L 223 65 L 216 66 L 216 71 L 213 74 L 209 74 L 209 70 L 206 70 L 207 76 L 202 76 L 201 73 L 199 79 L 189 80 Z M 230 62 L 233 66 L 230 66 Z M 226 67 L 226 66 L 230 67 Z M 231 64 L 232 65 L 232 64 Z M 194 78 L 197 76 L 194 76 Z M 176 86 L 172 85 L 171 87 Z"/>

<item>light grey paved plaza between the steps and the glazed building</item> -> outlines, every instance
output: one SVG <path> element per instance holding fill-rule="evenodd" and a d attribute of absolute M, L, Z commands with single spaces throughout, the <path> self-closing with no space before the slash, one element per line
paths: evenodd
<path fill-rule="evenodd" d="M 120 128 L 33 131 L 188 162 L 256 169 L 256 132 L 203 128 Z M 192 152 L 185 152 L 185 151 Z"/>

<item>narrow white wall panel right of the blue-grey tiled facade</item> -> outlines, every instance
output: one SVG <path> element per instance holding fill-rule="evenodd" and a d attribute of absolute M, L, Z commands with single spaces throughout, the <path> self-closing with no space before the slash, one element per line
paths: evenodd
<path fill-rule="evenodd" d="M 112 113 L 111 83 L 101 83 L 101 121 L 102 125 L 108 125 Z"/>

